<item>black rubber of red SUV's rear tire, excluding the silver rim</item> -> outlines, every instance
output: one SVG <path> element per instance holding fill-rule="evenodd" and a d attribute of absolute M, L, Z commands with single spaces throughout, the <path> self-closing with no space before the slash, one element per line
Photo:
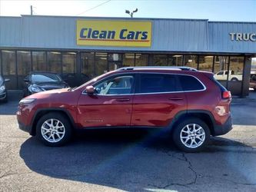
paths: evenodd
<path fill-rule="evenodd" d="M 185 127 L 185 125 L 187 125 L 187 124 L 198 124 L 204 129 L 205 139 L 204 139 L 204 143 L 201 144 L 200 147 L 189 148 L 189 147 L 186 147 L 185 144 L 182 144 L 180 134 L 181 134 L 182 128 Z M 202 151 L 204 149 L 205 145 L 208 144 L 208 141 L 210 139 L 210 131 L 209 131 L 208 125 L 205 124 L 204 121 L 201 121 L 198 118 L 188 118 L 188 119 L 181 121 L 179 124 L 177 124 L 174 127 L 172 138 L 173 138 L 173 141 L 175 142 L 176 147 L 178 147 L 181 151 L 193 153 L 193 152 Z"/>

